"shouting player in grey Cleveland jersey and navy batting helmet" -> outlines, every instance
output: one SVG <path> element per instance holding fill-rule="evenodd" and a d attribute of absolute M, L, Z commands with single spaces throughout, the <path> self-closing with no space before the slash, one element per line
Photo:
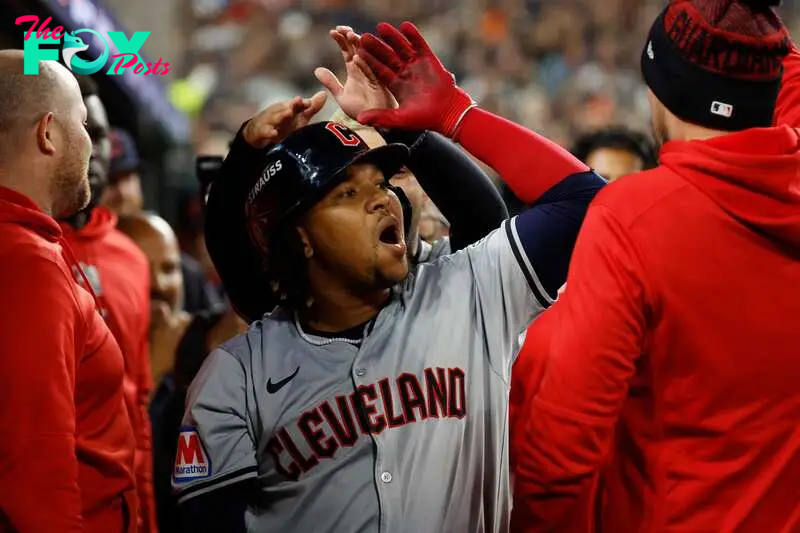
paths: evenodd
<path fill-rule="evenodd" d="M 399 108 L 384 110 L 398 125 L 464 146 L 481 131 L 542 145 L 475 109 L 416 29 L 403 32 L 413 55 L 394 66 L 414 82 L 395 92 Z M 323 102 L 298 99 L 251 119 L 209 191 L 213 234 L 224 227 L 226 192 L 259 169 L 241 206 L 247 246 L 282 303 L 215 350 L 192 384 L 173 474 L 184 530 L 507 531 L 506 407 L 519 334 L 564 282 L 604 182 L 573 159 L 569 172 L 539 182 L 524 214 L 409 274 L 403 209 L 386 183 L 408 150 L 370 150 L 335 122 L 307 125 Z M 519 165 L 527 154 L 485 162 Z"/>

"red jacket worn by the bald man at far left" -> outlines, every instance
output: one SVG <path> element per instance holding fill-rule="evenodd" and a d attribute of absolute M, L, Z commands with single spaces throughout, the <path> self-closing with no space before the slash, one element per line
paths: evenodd
<path fill-rule="evenodd" d="M 137 509 L 123 360 L 62 242 L 0 187 L 0 531 L 117 533 Z"/>

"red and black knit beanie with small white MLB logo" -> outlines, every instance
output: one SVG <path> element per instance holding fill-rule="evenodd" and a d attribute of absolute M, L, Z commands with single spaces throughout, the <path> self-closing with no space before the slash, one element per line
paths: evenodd
<path fill-rule="evenodd" d="M 642 74 L 675 116 L 735 131 L 772 124 L 790 38 L 780 0 L 673 0 L 642 52 Z"/>

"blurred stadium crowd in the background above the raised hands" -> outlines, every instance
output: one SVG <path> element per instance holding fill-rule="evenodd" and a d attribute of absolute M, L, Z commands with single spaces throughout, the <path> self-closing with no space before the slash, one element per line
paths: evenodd
<path fill-rule="evenodd" d="M 317 90 L 316 67 L 341 70 L 338 51 L 327 38 L 332 26 L 343 24 L 365 32 L 382 20 L 413 20 L 482 107 L 562 146 L 572 146 L 579 135 L 611 125 L 649 131 L 640 45 L 664 4 L 663 0 L 327 0 L 303 2 L 302 7 L 292 2 L 243 3 L 235 14 L 216 15 L 219 24 L 241 26 L 234 41 L 239 44 L 219 53 L 193 53 L 190 44 L 180 71 L 212 80 L 204 85 L 208 93 L 204 105 L 195 110 L 197 143 L 201 151 L 219 150 L 258 109 Z M 800 3 L 786 1 L 781 9 L 791 34 L 797 34 Z M 321 116 L 330 116 L 333 110 L 334 104 L 328 102 Z M 219 133 L 221 142 L 210 141 L 212 132 Z"/>

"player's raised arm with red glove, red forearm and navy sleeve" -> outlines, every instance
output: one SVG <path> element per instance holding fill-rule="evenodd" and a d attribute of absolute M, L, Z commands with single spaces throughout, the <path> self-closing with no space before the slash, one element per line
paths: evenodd
<path fill-rule="evenodd" d="M 363 112 L 359 121 L 455 138 L 513 184 L 533 207 L 514 219 L 512 247 L 540 303 L 549 305 L 566 278 L 586 209 L 605 182 L 551 141 L 476 109 L 410 22 L 400 30 L 379 24 L 378 33 L 363 36 L 359 54 L 400 105 Z"/>

